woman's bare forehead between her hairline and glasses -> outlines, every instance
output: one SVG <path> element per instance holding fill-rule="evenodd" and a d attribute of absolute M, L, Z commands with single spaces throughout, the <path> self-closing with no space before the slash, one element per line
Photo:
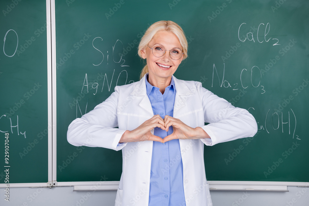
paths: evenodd
<path fill-rule="evenodd" d="M 182 48 L 178 37 L 172 32 L 161 31 L 155 34 L 150 41 L 151 45 L 161 44 L 167 48 Z"/>

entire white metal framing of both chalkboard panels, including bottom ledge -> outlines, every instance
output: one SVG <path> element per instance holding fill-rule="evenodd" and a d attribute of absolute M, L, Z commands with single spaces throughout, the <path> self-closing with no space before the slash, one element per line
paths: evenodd
<path fill-rule="evenodd" d="M 48 54 L 48 124 L 53 125 L 48 133 L 48 182 L 47 183 L 12 183 L 10 187 L 54 187 L 74 186 L 74 191 L 84 190 L 116 190 L 119 181 L 105 182 L 57 182 L 56 165 L 56 38 L 55 38 L 55 0 L 46 0 L 47 18 L 47 54 Z M 287 186 L 308 187 L 308 182 L 260 182 L 260 181 L 208 181 L 214 191 L 287 191 Z M 6 187 L 0 184 L 0 187 Z M 228 187 L 226 187 L 228 186 Z M 264 187 L 264 188 L 263 188 Z"/>

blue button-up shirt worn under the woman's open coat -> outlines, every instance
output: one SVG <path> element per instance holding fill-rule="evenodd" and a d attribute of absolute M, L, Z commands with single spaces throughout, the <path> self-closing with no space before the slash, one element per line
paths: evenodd
<path fill-rule="evenodd" d="M 148 78 L 148 74 L 147 74 Z M 158 87 L 150 85 L 146 78 L 147 95 L 150 100 L 154 115 L 173 116 L 176 89 L 173 78 L 171 84 L 162 93 Z M 173 127 L 165 130 L 156 127 L 154 135 L 161 138 L 173 133 Z M 179 140 L 165 143 L 153 142 L 149 206 L 183 206 L 184 185 L 183 165 L 181 160 Z"/>

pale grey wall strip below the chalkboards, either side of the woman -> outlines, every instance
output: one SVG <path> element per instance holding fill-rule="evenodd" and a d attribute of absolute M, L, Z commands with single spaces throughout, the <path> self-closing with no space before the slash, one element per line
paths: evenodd
<path fill-rule="evenodd" d="M 10 202 L 1 206 L 114 206 L 116 191 L 73 191 L 74 187 L 10 188 Z M 309 187 L 288 186 L 289 192 L 211 191 L 214 206 L 308 206 Z M 303 192 L 302 192 L 303 190 Z M 86 199 L 86 200 L 84 200 Z M 238 202 L 236 202 L 238 201 Z M 293 203 L 294 201 L 294 203 Z M 199 205 L 197 205 L 199 206 Z"/>

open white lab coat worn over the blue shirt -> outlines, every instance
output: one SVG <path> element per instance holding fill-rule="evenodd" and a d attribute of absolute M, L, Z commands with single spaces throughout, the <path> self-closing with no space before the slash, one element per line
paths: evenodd
<path fill-rule="evenodd" d="M 146 94 L 145 76 L 141 81 L 116 86 L 115 92 L 108 99 L 74 120 L 67 133 L 68 141 L 75 146 L 122 149 L 122 174 L 116 206 L 145 206 L 149 201 L 153 141 L 129 142 L 117 146 L 125 130 L 137 128 L 154 115 Z M 204 144 L 215 145 L 242 137 L 253 137 L 257 132 L 257 124 L 247 110 L 232 106 L 203 88 L 201 82 L 172 78 L 176 88 L 173 116 L 190 127 L 203 128 L 211 137 L 179 140 L 186 205 L 211 206 L 205 176 Z M 211 124 L 205 126 L 204 122 Z"/>

